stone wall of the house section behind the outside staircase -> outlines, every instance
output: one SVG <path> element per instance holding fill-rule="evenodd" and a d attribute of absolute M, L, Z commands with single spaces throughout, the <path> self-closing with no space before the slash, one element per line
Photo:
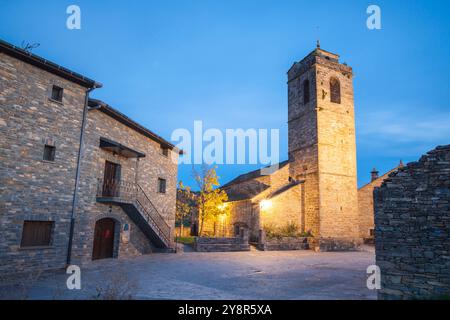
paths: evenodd
<path fill-rule="evenodd" d="M 134 256 L 153 251 L 145 237 L 127 214 L 118 206 L 96 202 L 98 179 L 103 179 L 105 161 L 121 165 L 121 180 L 137 182 L 158 209 L 172 231 L 175 228 L 177 164 L 171 155 L 164 156 L 154 140 L 132 130 L 98 110 L 88 112 L 85 145 L 81 162 L 79 200 L 76 213 L 74 261 L 91 259 L 95 222 L 115 213 L 116 222 L 130 226 L 130 241 L 119 245 L 118 257 Z M 108 138 L 128 148 L 142 152 L 144 158 L 125 158 L 99 148 L 100 137 Z M 158 193 L 158 178 L 167 181 L 166 193 Z M 174 236 L 174 234 L 172 234 Z"/>

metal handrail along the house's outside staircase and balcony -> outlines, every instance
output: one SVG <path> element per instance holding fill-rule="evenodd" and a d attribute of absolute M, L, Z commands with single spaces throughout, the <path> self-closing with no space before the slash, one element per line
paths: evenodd
<path fill-rule="evenodd" d="M 170 226 L 139 184 L 123 180 L 98 179 L 97 197 L 133 203 L 155 232 L 170 245 Z"/>

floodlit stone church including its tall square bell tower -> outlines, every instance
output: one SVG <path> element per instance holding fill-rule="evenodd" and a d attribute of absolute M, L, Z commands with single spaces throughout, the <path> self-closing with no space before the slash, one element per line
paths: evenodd
<path fill-rule="evenodd" d="M 352 68 L 320 48 L 288 71 L 289 160 L 270 175 L 243 174 L 222 188 L 231 215 L 225 229 L 293 223 L 310 233 L 316 250 L 352 250 L 373 238 L 373 189 L 386 175 L 357 189 Z"/>

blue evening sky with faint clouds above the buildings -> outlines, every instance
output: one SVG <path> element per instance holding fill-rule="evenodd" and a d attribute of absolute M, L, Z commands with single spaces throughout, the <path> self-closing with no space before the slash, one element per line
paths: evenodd
<path fill-rule="evenodd" d="M 66 28 L 80 6 L 81 30 Z M 377 4 L 382 30 L 366 28 Z M 278 128 L 286 72 L 315 47 L 354 69 L 359 185 L 450 143 L 450 1 L 0 0 L 0 38 L 104 84 L 93 97 L 170 139 L 177 128 Z M 221 182 L 259 168 L 221 165 Z M 191 167 L 179 178 L 192 183 Z"/>

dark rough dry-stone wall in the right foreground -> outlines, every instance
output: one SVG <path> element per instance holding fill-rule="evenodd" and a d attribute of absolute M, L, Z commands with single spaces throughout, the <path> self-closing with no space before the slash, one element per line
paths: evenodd
<path fill-rule="evenodd" d="M 450 145 L 390 174 L 374 202 L 379 298 L 448 298 Z"/>

